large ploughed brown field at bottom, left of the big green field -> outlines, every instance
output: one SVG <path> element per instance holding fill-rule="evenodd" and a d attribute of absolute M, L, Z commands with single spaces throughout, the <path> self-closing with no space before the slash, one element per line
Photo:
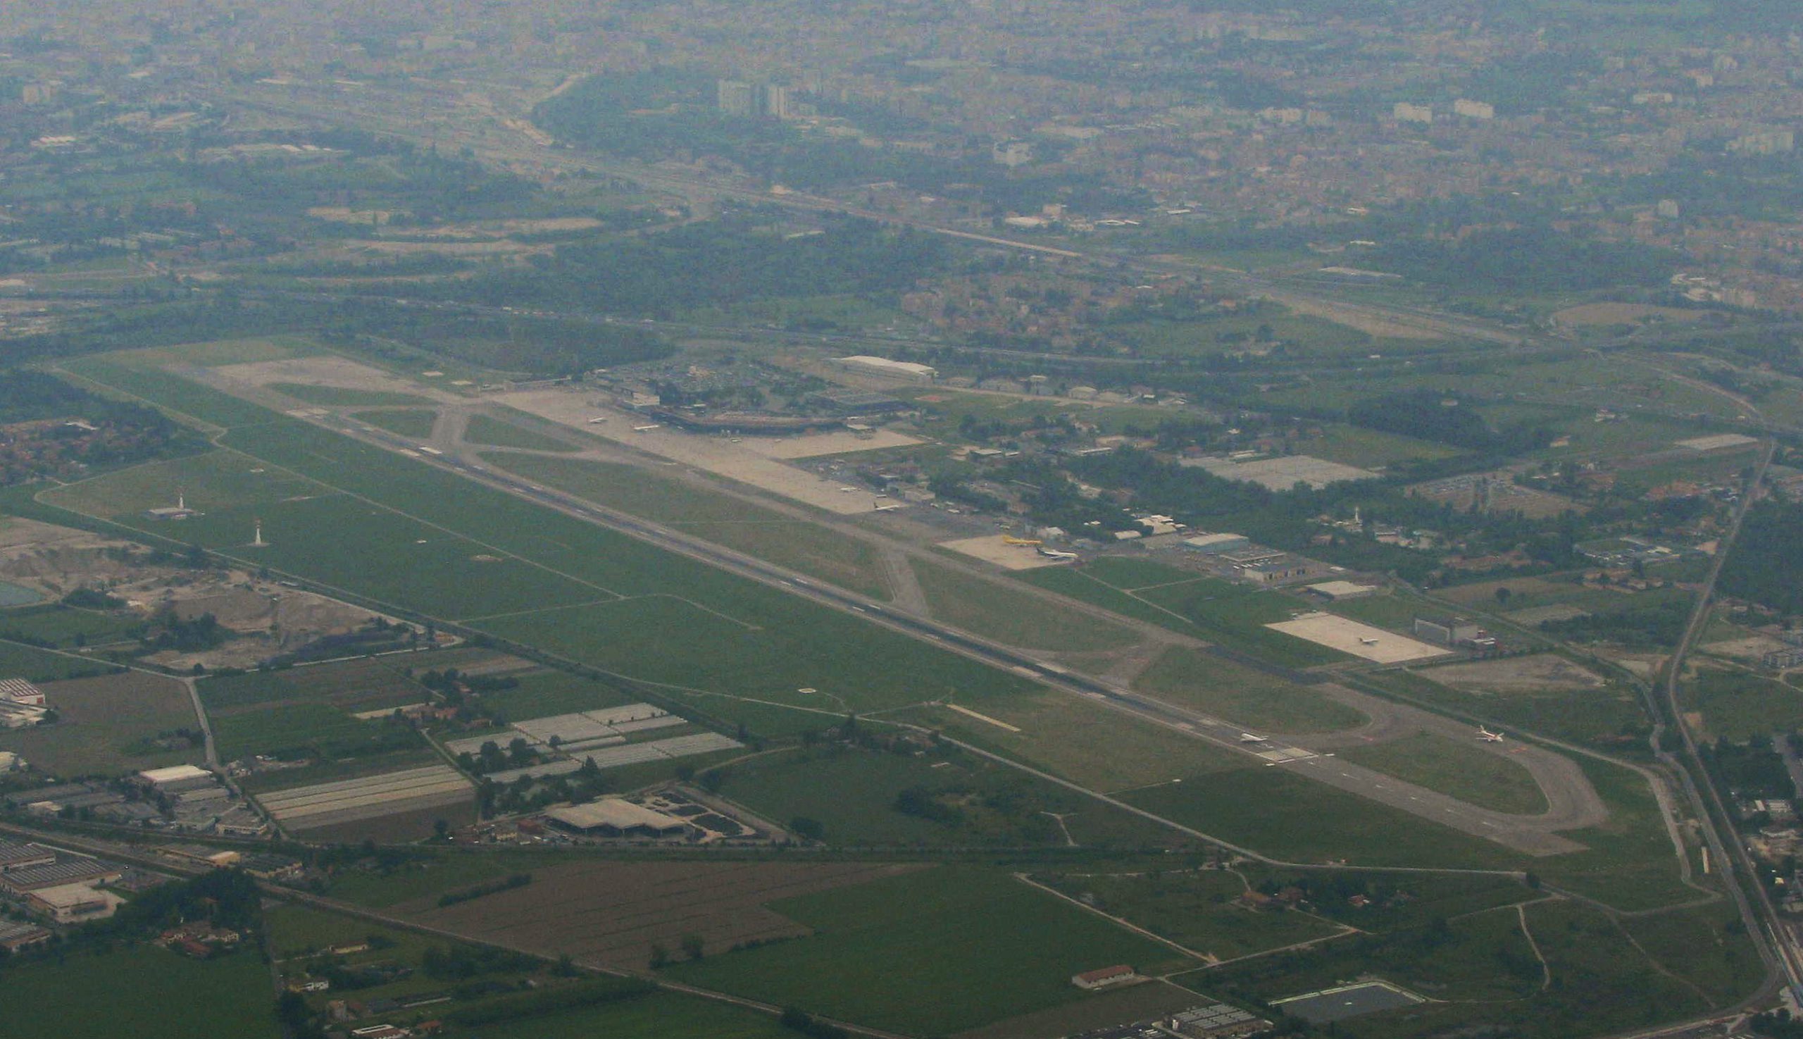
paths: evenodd
<path fill-rule="evenodd" d="M 449 907 L 438 896 L 389 911 L 481 942 L 581 963 L 645 967 L 651 947 L 680 956 L 685 934 L 705 952 L 799 938 L 808 927 L 764 909 L 779 898 L 892 877 L 920 866 L 871 862 L 572 862 L 532 884 Z"/>

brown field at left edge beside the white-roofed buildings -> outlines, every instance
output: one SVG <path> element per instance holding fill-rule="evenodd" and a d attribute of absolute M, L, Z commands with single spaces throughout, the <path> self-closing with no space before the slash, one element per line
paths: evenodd
<path fill-rule="evenodd" d="M 34 768 L 63 777 L 117 776 L 206 758 L 204 747 L 186 738 L 159 741 L 177 731 L 200 731 L 188 689 L 173 678 L 130 671 L 47 682 L 41 689 L 59 720 L 0 731 L 0 750 L 18 752 Z"/>

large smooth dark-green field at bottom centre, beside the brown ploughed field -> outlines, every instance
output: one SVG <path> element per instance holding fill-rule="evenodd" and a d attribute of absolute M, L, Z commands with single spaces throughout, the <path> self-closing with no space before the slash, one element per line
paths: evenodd
<path fill-rule="evenodd" d="M 813 933 L 680 963 L 694 985 L 914 1035 L 1076 1003 L 1071 974 L 1179 967 L 1172 949 L 999 869 L 938 866 L 773 902 Z M 921 994 L 930 992 L 930 999 Z"/>

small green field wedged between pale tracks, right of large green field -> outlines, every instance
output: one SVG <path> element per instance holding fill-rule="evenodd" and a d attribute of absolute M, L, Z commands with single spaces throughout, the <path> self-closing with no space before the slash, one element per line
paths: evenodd
<path fill-rule="evenodd" d="M 1213 960 L 1239 960 L 1350 933 L 1309 913 L 1237 904 L 1249 887 L 1244 877 L 1228 869 L 1055 873 L 1035 880 Z"/>

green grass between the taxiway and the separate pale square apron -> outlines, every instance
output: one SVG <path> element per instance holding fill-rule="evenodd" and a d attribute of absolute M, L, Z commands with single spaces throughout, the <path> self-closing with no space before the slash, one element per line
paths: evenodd
<path fill-rule="evenodd" d="M 1343 653 L 1266 628 L 1305 611 L 1304 602 L 1161 563 L 1102 557 L 1024 572 L 1019 579 L 1286 667 L 1347 660 Z"/>

